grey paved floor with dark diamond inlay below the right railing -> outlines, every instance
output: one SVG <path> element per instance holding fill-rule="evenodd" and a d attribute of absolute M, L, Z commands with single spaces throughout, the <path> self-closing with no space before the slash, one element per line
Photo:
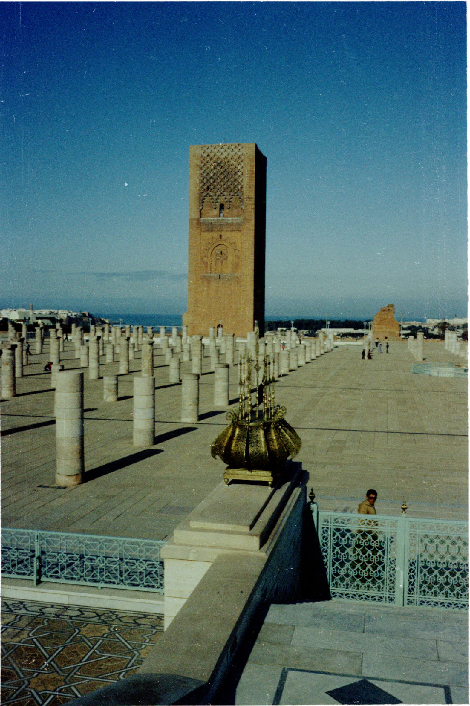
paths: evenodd
<path fill-rule="evenodd" d="M 235 703 L 469 702 L 468 614 L 320 603 L 272 605 Z"/>

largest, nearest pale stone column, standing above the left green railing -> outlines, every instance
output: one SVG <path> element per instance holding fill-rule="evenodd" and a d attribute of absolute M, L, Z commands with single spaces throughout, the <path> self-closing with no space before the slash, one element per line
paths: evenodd
<path fill-rule="evenodd" d="M 56 484 L 82 483 L 85 471 L 83 453 L 83 373 L 64 371 L 56 381 Z"/>

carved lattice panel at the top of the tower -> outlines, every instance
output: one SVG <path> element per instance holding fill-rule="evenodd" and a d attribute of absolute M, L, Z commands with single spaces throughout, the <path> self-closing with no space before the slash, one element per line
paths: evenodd
<path fill-rule="evenodd" d="M 230 208 L 234 198 L 243 206 L 243 145 L 204 145 L 200 175 L 199 208 L 206 198 L 214 210 L 218 203 Z"/>

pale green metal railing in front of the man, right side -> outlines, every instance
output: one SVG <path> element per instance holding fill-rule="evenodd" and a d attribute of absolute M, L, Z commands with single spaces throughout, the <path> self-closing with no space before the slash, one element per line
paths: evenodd
<path fill-rule="evenodd" d="M 468 522 L 313 511 L 333 597 L 468 609 Z"/>

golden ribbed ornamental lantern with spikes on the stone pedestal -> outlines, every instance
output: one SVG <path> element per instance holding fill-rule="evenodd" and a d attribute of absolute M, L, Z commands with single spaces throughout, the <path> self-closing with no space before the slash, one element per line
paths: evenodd
<path fill-rule="evenodd" d="M 274 362 L 264 355 L 260 382 L 259 342 L 256 330 L 255 355 L 240 359 L 240 400 L 236 410 L 227 412 L 230 424 L 211 445 L 214 458 L 227 464 L 223 479 L 264 481 L 273 485 L 285 469 L 287 458 L 302 446 L 295 429 L 284 419 L 285 407 L 274 399 Z M 254 383 L 254 384 L 253 384 Z"/>

